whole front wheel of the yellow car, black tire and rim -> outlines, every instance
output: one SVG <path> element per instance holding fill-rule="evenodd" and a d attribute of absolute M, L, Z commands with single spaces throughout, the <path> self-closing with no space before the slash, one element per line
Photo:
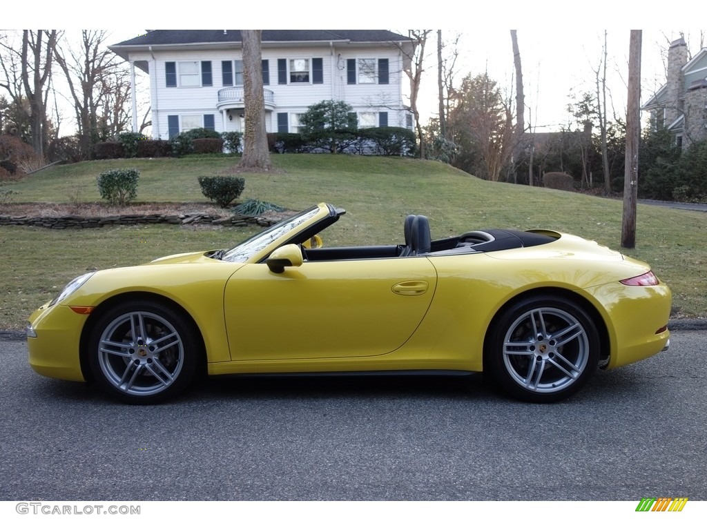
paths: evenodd
<path fill-rule="evenodd" d="M 129 404 L 148 405 L 185 391 L 201 359 L 201 341 L 182 312 L 143 300 L 101 314 L 88 342 L 98 386 Z"/>

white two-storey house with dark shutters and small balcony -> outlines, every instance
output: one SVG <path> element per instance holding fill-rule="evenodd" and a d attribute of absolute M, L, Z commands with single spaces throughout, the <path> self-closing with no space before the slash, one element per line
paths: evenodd
<path fill-rule="evenodd" d="M 151 30 L 110 49 L 130 63 L 133 96 L 135 68 L 149 74 L 153 138 L 243 131 L 240 30 Z M 387 30 L 263 30 L 267 131 L 297 132 L 300 115 L 322 100 L 347 102 L 359 127 L 411 128 L 402 87 L 412 50 Z"/>

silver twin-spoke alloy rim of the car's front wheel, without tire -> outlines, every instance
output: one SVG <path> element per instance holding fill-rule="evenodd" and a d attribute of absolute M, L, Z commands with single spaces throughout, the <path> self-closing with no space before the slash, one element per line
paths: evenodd
<path fill-rule="evenodd" d="M 152 312 L 129 312 L 105 327 L 98 341 L 98 365 L 118 391 L 153 396 L 177 380 L 184 349 L 168 320 Z"/>

